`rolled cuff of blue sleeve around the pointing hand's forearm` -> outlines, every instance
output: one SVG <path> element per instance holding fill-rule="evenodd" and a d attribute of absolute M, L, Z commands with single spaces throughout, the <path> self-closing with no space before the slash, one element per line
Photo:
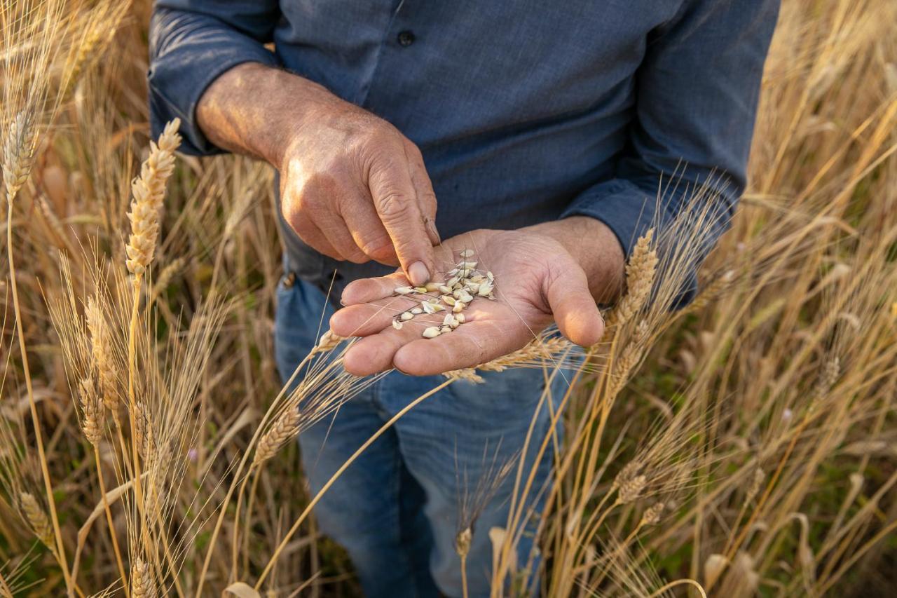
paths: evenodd
<path fill-rule="evenodd" d="M 147 80 L 152 137 L 180 119 L 179 151 L 191 155 L 223 154 L 196 123 L 196 105 L 225 71 L 245 62 L 280 66 L 274 53 L 238 31 L 221 27 L 212 17 L 157 10 L 152 16 L 155 46 Z"/>

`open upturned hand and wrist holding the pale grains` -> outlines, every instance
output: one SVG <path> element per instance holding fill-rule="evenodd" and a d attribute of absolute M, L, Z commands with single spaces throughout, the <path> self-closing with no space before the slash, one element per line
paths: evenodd
<path fill-rule="evenodd" d="M 593 295 L 613 296 L 623 269 L 623 252 L 604 224 L 578 217 L 520 231 L 458 235 L 436 248 L 436 281 L 464 249 L 475 251 L 477 268 L 494 275 L 496 300 L 475 299 L 463 312 L 465 323 L 435 339 L 421 333 L 438 326 L 444 312 L 424 313 L 401 330 L 393 328 L 396 314 L 417 304 L 393 296 L 396 286 L 408 284 L 400 272 L 346 286 L 346 307 L 334 314 L 330 328 L 340 336 L 364 337 L 346 353 L 347 371 L 366 375 L 395 367 L 429 375 L 479 365 L 523 347 L 552 321 L 579 345 L 601 339 L 604 321 Z"/>

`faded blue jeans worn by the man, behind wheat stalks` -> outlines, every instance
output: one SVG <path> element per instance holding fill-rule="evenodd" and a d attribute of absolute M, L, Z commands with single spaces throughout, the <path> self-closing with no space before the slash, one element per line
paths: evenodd
<path fill-rule="evenodd" d="M 285 280 L 285 279 L 284 279 Z M 334 308 L 316 286 L 281 281 L 277 293 L 275 352 L 284 380 L 314 346 L 324 312 L 324 330 Z M 503 463 L 523 448 L 538 409 L 533 440 L 526 451 L 524 480 L 549 431 L 551 415 L 542 398 L 542 369 L 483 374 L 484 384 L 455 382 L 399 418 L 345 470 L 318 503 L 320 529 L 344 546 L 366 595 L 371 598 L 461 595 L 461 565 L 455 538 L 465 497 L 469 504 Z M 555 375 L 554 400 L 566 383 Z M 393 372 L 346 402 L 335 417 L 300 435 L 302 465 L 312 495 L 379 427 L 410 401 L 445 382 L 442 376 L 414 377 Z M 556 385 L 555 385 L 556 384 Z M 539 489 L 551 475 L 553 452 L 544 453 L 527 504 L 536 515 L 517 546 L 519 567 L 527 564 L 532 529 L 538 519 Z M 514 492 L 517 462 L 501 485 L 487 495 L 473 528 L 467 557 L 471 596 L 488 596 L 492 572 L 489 530 L 504 528 Z M 518 498 L 519 500 L 519 498 Z M 534 502 L 536 501 L 536 502 Z"/>

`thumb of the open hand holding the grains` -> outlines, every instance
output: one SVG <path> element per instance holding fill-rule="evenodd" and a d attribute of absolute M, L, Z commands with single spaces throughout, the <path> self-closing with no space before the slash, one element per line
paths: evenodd
<path fill-rule="evenodd" d="M 586 273 L 572 260 L 556 271 L 548 281 L 545 295 L 558 329 L 581 347 L 597 344 L 605 333 L 605 321 L 588 292 Z"/>

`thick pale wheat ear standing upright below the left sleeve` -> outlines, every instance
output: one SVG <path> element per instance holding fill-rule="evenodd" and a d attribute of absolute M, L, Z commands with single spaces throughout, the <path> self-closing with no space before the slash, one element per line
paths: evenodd
<path fill-rule="evenodd" d="M 159 236 L 159 212 L 165 198 L 165 184 L 174 171 L 174 151 L 180 145 L 178 128 L 180 120 L 174 119 L 165 126 L 159 143 L 150 142 L 150 156 L 131 184 L 131 235 L 125 251 L 127 269 L 135 276 L 143 276 L 152 261 Z"/>

